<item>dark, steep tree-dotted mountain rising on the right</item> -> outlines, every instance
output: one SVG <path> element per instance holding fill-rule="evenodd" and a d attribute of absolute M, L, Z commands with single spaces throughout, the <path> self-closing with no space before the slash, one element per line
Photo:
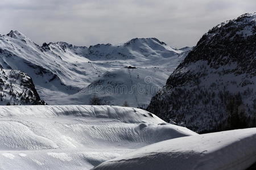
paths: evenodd
<path fill-rule="evenodd" d="M 148 111 L 195 131 L 256 126 L 256 14 L 210 29 Z"/>

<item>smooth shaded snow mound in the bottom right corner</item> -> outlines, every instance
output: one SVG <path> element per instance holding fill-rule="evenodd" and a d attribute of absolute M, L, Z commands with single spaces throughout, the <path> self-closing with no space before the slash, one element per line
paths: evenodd
<path fill-rule="evenodd" d="M 256 162 L 256 128 L 155 143 L 94 169 L 246 169 Z"/>

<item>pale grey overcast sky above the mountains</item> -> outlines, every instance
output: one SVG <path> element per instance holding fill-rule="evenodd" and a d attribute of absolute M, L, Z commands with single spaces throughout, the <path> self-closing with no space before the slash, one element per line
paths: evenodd
<path fill-rule="evenodd" d="M 1 0 L 0 34 L 18 30 L 42 45 L 119 44 L 156 37 L 193 46 L 214 25 L 256 11 L 256 0 Z"/>

